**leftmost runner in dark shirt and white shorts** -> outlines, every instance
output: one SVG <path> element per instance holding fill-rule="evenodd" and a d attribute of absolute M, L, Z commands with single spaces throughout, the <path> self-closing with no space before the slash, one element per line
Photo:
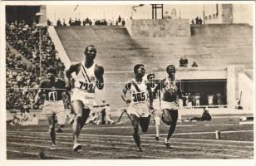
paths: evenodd
<path fill-rule="evenodd" d="M 51 149 L 56 149 L 55 118 L 57 117 L 57 123 L 62 127 L 65 125 L 66 121 L 66 113 L 62 100 L 62 93 L 63 91 L 66 91 L 66 85 L 65 81 L 56 78 L 56 75 L 54 69 L 49 69 L 47 71 L 47 81 L 42 81 L 40 89 L 35 96 L 35 101 L 37 102 L 43 94 L 46 95 L 46 100 L 42 107 L 42 115 L 47 116 L 50 137 L 52 140 Z M 67 91 L 66 95 L 69 95 Z"/>

